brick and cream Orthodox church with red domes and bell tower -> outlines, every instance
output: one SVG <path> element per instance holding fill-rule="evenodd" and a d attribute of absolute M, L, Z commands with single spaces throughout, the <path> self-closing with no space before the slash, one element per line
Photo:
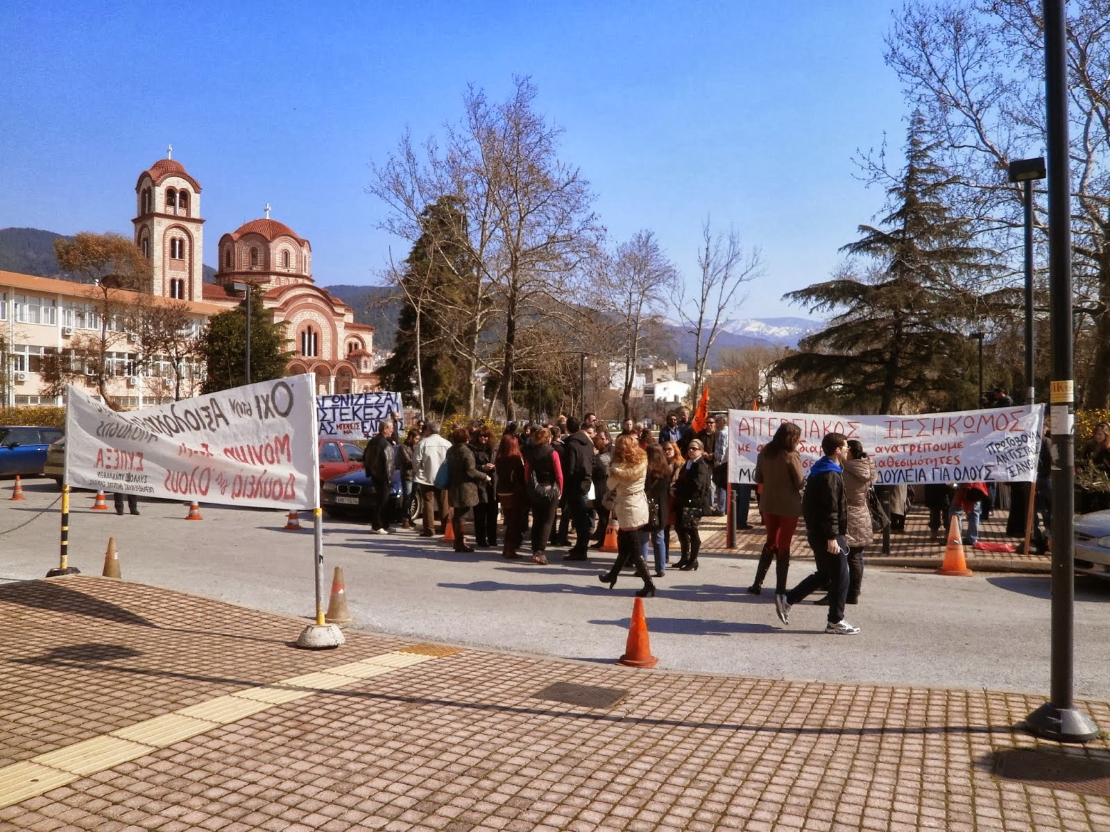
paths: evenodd
<path fill-rule="evenodd" d="M 374 327 L 312 278 L 312 245 L 284 223 L 264 216 L 220 237 L 215 283 L 204 283 L 201 185 L 167 153 L 139 174 L 135 244 L 151 261 L 153 293 L 223 307 L 238 306 L 244 284 L 262 293 L 294 352 L 287 373 L 316 374 L 319 394 L 377 389 Z M 239 288 L 235 286 L 239 284 Z"/>

